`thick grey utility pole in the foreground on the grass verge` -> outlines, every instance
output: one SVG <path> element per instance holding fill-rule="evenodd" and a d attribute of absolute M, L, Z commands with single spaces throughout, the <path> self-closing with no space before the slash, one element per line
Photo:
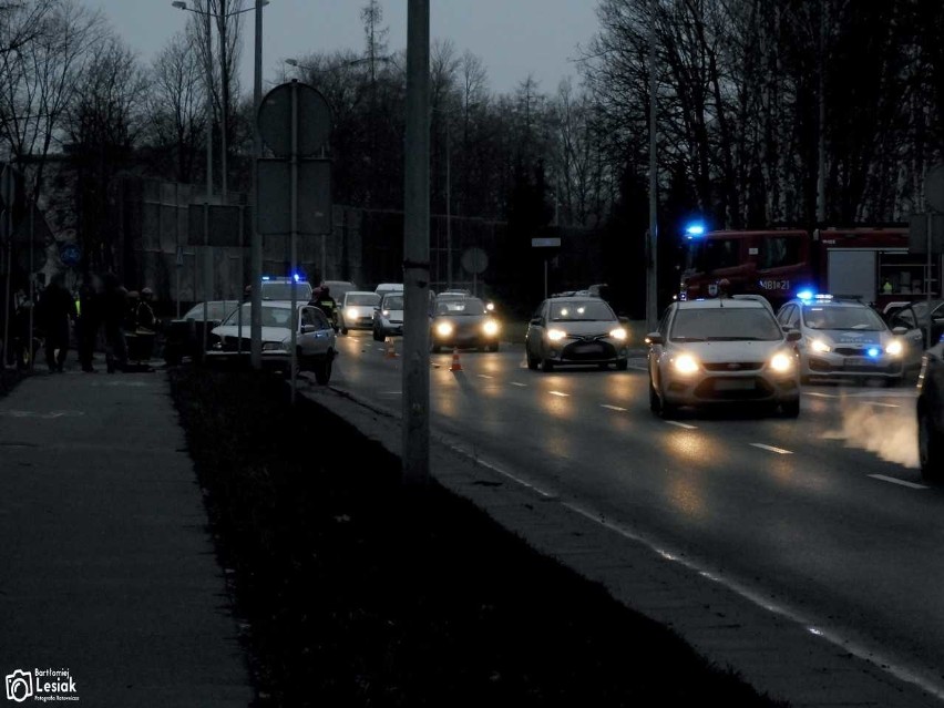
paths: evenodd
<path fill-rule="evenodd" d="M 403 481 L 430 468 L 430 1 L 409 0 L 403 219 Z"/>

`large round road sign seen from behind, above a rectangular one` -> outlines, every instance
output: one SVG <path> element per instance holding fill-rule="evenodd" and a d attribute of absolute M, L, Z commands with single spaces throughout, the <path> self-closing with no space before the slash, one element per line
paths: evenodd
<path fill-rule="evenodd" d="M 291 156 L 291 93 L 297 92 L 298 155 L 317 153 L 331 134 L 331 106 L 307 83 L 289 81 L 263 96 L 256 123 L 259 135 L 276 157 Z"/>

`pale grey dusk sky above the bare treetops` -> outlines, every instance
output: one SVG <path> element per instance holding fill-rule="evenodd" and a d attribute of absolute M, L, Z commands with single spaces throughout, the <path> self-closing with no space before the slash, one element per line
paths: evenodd
<path fill-rule="evenodd" d="M 117 33 L 150 62 L 185 22 L 171 0 L 83 0 L 101 8 Z M 265 9 L 265 79 L 279 78 L 280 62 L 312 51 L 362 51 L 360 9 L 366 0 L 271 0 Z M 249 3 L 246 3 L 247 7 Z M 509 92 L 533 74 L 553 93 L 577 79 L 574 58 L 597 30 L 595 0 L 431 0 L 433 39 L 451 39 L 458 53 L 482 58 L 493 91 Z M 386 0 L 383 24 L 391 51 L 407 44 L 407 0 Z M 242 80 L 252 90 L 253 13 L 246 13 Z"/>

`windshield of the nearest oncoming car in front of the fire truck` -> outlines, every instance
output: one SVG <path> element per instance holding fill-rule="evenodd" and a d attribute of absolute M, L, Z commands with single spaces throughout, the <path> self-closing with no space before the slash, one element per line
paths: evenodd
<path fill-rule="evenodd" d="M 679 309 L 669 332 L 675 341 L 777 341 L 783 330 L 762 307 Z"/>

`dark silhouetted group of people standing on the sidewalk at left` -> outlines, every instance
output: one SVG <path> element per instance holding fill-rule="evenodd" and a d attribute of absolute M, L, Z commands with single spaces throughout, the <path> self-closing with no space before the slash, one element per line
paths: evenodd
<path fill-rule="evenodd" d="M 151 288 L 129 291 L 114 274 L 102 277 L 85 274 L 78 297 L 54 276 L 40 294 L 35 306 L 38 327 L 45 336 L 45 361 L 50 371 L 63 371 L 69 353 L 70 325 L 75 326 L 75 342 L 82 371 L 94 372 L 94 352 L 100 331 L 104 334 L 105 366 L 110 373 L 129 362 L 129 337 L 153 342 L 156 317 Z M 150 358 L 150 356 L 148 356 Z"/>

